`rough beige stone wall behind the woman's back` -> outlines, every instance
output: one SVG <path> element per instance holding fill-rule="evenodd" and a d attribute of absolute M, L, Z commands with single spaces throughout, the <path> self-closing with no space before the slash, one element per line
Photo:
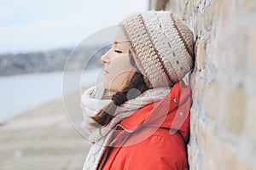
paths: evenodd
<path fill-rule="evenodd" d="M 256 1 L 169 0 L 164 7 L 195 34 L 190 169 L 256 169 Z"/>

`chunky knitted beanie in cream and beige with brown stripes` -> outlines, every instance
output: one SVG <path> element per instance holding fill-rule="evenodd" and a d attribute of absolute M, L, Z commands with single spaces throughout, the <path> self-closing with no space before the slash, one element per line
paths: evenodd
<path fill-rule="evenodd" d="M 173 86 L 194 67 L 194 37 L 169 11 L 132 14 L 119 26 L 148 88 Z"/>

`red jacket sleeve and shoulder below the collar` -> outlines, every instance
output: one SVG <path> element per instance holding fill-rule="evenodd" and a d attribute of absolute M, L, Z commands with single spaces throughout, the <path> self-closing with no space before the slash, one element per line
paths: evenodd
<path fill-rule="evenodd" d="M 184 170 L 188 169 L 183 139 L 180 135 L 154 134 L 143 142 L 125 148 L 126 170 Z"/>

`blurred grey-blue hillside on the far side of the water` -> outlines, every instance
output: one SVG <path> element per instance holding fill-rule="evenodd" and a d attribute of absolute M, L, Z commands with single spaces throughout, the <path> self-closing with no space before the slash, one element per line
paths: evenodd
<path fill-rule="evenodd" d="M 87 61 L 89 63 L 86 68 L 102 66 L 100 57 L 108 48 L 91 46 L 76 48 L 73 52 L 72 48 L 64 48 L 46 52 L 0 54 L 0 77 L 35 72 L 63 71 L 67 59 L 67 70 L 83 69 Z M 72 55 L 70 55 L 71 52 Z M 68 58 L 69 55 L 70 58 Z"/>

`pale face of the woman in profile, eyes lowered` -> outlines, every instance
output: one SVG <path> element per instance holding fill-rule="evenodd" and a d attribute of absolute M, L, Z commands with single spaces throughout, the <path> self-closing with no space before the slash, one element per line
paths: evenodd
<path fill-rule="evenodd" d="M 101 58 L 104 65 L 104 87 L 112 91 L 120 91 L 133 76 L 136 68 L 131 65 L 129 42 L 119 29 L 112 47 Z"/>

